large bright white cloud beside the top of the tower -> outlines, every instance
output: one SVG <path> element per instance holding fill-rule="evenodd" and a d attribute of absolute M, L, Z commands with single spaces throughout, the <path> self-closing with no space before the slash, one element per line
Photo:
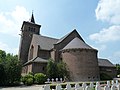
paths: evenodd
<path fill-rule="evenodd" d="M 22 6 L 16 6 L 12 12 L 0 12 L 0 33 L 18 36 L 22 22 L 29 18 L 29 12 Z"/>

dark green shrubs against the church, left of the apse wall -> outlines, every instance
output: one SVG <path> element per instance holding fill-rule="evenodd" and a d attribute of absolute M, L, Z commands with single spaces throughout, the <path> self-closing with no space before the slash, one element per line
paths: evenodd
<path fill-rule="evenodd" d="M 52 59 L 49 60 L 47 65 L 47 76 L 48 78 L 69 78 L 69 74 L 64 62 L 56 63 Z"/>

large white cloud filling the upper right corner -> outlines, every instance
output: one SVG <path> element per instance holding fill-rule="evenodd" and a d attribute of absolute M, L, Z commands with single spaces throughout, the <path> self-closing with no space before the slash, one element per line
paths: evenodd
<path fill-rule="evenodd" d="M 120 0 L 100 0 L 95 13 L 97 20 L 120 24 Z"/>

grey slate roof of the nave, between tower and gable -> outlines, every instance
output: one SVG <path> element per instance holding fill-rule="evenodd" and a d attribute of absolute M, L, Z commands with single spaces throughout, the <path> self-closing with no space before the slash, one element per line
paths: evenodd
<path fill-rule="evenodd" d="M 43 50 L 51 50 L 57 41 L 58 39 L 55 38 L 33 34 L 32 44 L 39 45 Z"/>

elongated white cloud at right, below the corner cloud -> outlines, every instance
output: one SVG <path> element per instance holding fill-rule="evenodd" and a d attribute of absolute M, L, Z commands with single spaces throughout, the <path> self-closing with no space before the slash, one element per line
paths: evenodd
<path fill-rule="evenodd" d="M 120 26 L 114 25 L 103 29 L 98 33 L 90 35 L 89 38 L 99 43 L 118 41 L 120 40 Z"/>

